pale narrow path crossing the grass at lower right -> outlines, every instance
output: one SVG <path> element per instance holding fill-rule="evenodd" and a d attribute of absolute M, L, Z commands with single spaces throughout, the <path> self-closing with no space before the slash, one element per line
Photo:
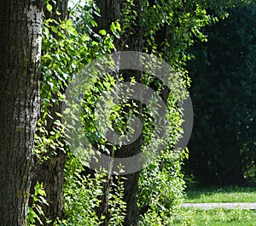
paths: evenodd
<path fill-rule="evenodd" d="M 256 210 L 256 202 L 182 203 L 181 206 L 184 208 L 199 208 L 204 210 L 216 208 Z"/>

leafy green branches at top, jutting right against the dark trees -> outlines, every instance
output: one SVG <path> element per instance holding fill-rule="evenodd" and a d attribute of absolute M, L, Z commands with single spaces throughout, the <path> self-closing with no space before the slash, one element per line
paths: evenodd
<path fill-rule="evenodd" d="M 199 3 L 153 2 L 150 4 L 147 1 L 142 18 L 146 49 L 152 49 L 152 53 L 160 54 L 175 69 L 181 70 L 190 59 L 186 50 L 194 43 L 194 37 L 205 40 L 201 28 L 212 23 L 216 17 L 207 14 L 207 10 Z M 166 27 L 168 29 L 163 33 Z"/>

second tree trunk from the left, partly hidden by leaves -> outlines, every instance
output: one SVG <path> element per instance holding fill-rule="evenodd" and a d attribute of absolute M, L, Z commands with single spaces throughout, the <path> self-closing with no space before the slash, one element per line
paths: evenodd
<path fill-rule="evenodd" d="M 53 6 L 53 10 L 44 11 L 44 18 L 54 19 L 56 21 L 67 20 L 67 0 L 60 1 L 49 1 Z M 59 12 L 59 14 L 56 14 Z M 53 33 L 57 39 L 57 35 Z M 55 75 L 53 75 L 55 76 Z M 60 90 L 61 93 L 64 93 L 64 90 Z M 57 94 L 53 93 L 53 99 L 58 99 Z M 61 118 L 56 115 L 55 112 L 61 113 L 61 101 L 51 102 L 51 106 L 48 108 L 48 117 L 47 117 L 47 131 L 53 131 L 55 127 L 55 121 L 61 121 Z M 53 154 L 55 153 L 55 154 Z M 46 200 L 48 201 L 49 206 L 42 206 L 44 215 L 46 218 L 51 220 L 49 225 L 53 225 L 56 218 L 64 217 L 64 206 L 63 206 L 63 184 L 64 177 L 63 171 L 65 167 L 66 154 L 63 150 L 56 148 L 53 150 L 51 147 L 48 149 L 48 159 L 46 161 L 37 163 L 37 175 L 32 180 L 32 185 L 34 186 L 39 182 L 44 184 L 44 190 L 46 193 Z M 33 189 L 32 186 L 32 189 Z M 32 191 L 33 192 L 33 191 Z M 45 219 L 41 219 L 44 224 Z"/>

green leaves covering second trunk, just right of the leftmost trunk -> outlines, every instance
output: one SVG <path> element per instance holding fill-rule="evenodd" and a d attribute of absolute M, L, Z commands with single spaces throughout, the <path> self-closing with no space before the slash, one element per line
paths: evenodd
<path fill-rule="evenodd" d="M 41 116 L 35 137 L 35 153 L 44 161 L 55 150 L 65 151 L 61 103 L 70 75 L 79 67 L 78 33 L 70 20 L 44 20 L 42 47 Z M 80 48 L 84 51 L 84 48 Z M 52 122 L 51 122 L 52 121 Z M 49 125 L 52 123 L 52 125 Z M 49 151 L 51 150 L 51 151 Z"/>

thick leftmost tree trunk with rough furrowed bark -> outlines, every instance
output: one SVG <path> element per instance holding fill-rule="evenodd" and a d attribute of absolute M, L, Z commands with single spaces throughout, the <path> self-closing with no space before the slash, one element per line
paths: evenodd
<path fill-rule="evenodd" d="M 43 0 L 0 2 L 0 224 L 26 225 Z"/>

